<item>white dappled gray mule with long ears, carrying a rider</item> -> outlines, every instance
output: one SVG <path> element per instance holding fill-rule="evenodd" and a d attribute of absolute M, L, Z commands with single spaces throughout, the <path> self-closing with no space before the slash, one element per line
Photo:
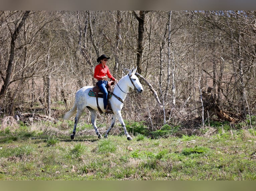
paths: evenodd
<path fill-rule="evenodd" d="M 115 85 L 113 90 L 113 95 L 111 98 L 109 98 L 109 102 L 111 104 L 111 108 L 113 110 L 112 115 L 112 121 L 111 126 L 106 131 L 106 134 L 104 135 L 105 138 L 108 137 L 109 131 L 115 124 L 116 118 L 120 121 L 122 127 L 124 128 L 124 134 L 126 135 L 128 140 L 132 140 L 131 136 L 126 130 L 124 120 L 122 118 L 121 110 L 124 106 L 124 99 L 126 95 L 128 94 L 129 89 L 133 89 L 137 93 L 142 93 L 143 87 L 141 83 L 139 82 L 139 79 L 137 76 L 135 76 L 135 72 L 137 70 L 137 67 L 132 69 L 129 74 L 122 77 L 118 83 Z M 92 90 L 92 86 L 85 86 L 77 91 L 76 97 L 75 97 L 75 103 L 73 108 L 67 112 L 64 116 L 64 119 L 69 119 L 71 116 L 75 114 L 77 111 L 77 115 L 75 117 L 75 125 L 73 129 L 73 133 L 71 135 L 71 139 L 75 138 L 76 134 L 76 127 L 79 121 L 79 118 L 81 117 L 82 113 L 84 112 L 85 108 L 87 108 L 91 112 L 91 122 L 93 124 L 93 127 L 95 129 L 96 134 L 98 135 L 98 138 L 102 138 L 100 132 L 98 131 L 98 128 L 96 126 L 96 116 L 97 116 L 97 102 L 96 97 L 89 96 L 88 93 L 90 90 Z M 104 105 L 103 105 L 103 98 L 99 98 L 99 106 L 101 110 L 104 112 Z"/>

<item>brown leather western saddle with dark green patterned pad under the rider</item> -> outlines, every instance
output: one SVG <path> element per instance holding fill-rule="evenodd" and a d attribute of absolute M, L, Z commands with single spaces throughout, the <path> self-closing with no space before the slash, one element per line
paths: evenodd
<path fill-rule="evenodd" d="M 110 94 L 110 93 L 112 93 L 114 86 L 115 86 L 115 83 L 113 81 L 109 81 L 106 86 L 107 91 L 108 91 L 108 106 L 107 106 L 107 108 L 109 108 L 109 109 L 111 109 L 111 105 L 109 103 L 109 98 L 112 96 L 112 94 Z M 96 97 L 97 107 L 98 107 L 100 113 L 103 113 L 103 111 L 101 110 L 101 108 L 99 106 L 99 102 L 98 102 L 98 97 L 103 98 L 103 92 L 100 90 L 100 88 L 98 86 L 98 82 L 96 82 L 93 89 L 89 91 L 88 95 Z"/>

